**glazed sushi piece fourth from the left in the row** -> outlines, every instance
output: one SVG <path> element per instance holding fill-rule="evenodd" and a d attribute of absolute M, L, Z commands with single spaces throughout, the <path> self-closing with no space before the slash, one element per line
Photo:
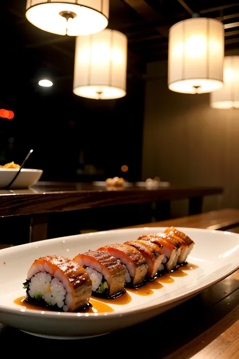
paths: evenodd
<path fill-rule="evenodd" d="M 164 269 L 162 261 L 165 257 L 165 254 L 158 245 L 143 239 L 128 241 L 124 244 L 133 246 L 134 248 L 138 249 L 144 256 L 149 265 L 147 271 L 148 277 L 154 278 L 158 271 L 162 271 Z"/>

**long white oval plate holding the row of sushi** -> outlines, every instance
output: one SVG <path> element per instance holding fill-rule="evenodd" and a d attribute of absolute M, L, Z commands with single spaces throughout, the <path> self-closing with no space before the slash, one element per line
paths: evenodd
<path fill-rule="evenodd" d="M 165 228 L 134 228 L 81 234 L 49 239 L 2 249 L 0 251 L 0 323 L 38 335 L 87 337 L 108 333 L 142 322 L 189 299 L 239 268 L 239 235 L 229 232 L 182 228 L 195 241 L 188 262 L 198 266 L 186 277 L 140 296 L 130 292 L 128 304 L 116 305 L 111 313 L 56 313 L 26 309 L 14 303 L 23 296 L 22 283 L 32 262 L 45 255 L 73 258 L 79 252 L 103 244 L 124 243 L 143 233 L 162 232 Z M 4 262 L 6 264 L 4 264 Z"/>

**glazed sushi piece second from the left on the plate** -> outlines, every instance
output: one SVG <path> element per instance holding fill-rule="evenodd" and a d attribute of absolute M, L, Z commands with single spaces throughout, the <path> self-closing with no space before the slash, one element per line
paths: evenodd
<path fill-rule="evenodd" d="M 125 269 L 108 252 L 89 250 L 78 254 L 73 261 L 89 274 L 93 295 L 112 298 L 125 293 Z"/>

